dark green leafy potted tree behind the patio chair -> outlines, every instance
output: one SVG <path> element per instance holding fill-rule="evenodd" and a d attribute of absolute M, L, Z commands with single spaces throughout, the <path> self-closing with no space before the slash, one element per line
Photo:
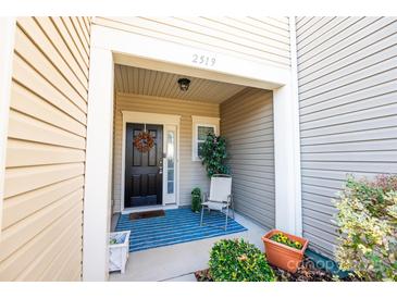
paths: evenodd
<path fill-rule="evenodd" d="M 208 134 L 206 141 L 201 145 L 200 159 L 209 177 L 214 174 L 228 174 L 228 167 L 225 165 L 226 158 L 225 138 L 212 133 Z"/>

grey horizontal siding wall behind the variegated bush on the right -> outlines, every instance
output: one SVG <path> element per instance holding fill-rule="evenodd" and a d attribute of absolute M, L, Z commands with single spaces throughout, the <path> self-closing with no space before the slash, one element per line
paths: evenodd
<path fill-rule="evenodd" d="M 297 21 L 303 236 L 330 257 L 348 173 L 397 173 L 397 18 Z"/>

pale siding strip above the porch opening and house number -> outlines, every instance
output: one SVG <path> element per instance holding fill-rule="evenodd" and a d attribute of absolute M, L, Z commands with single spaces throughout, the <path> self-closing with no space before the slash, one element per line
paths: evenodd
<path fill-rule="evenodd" d="M 215 53 L 290 65 L 288 17 L 95 17 L 94 23 Z"/>

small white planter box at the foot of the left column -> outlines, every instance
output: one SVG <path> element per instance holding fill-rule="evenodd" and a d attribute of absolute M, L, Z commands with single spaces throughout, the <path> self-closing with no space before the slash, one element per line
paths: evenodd
<path fill-rule="evenodd" d="M 125 273 L 125 264 L 128 260 L 131 231 L 113 232 L 109 237 L 109 271 Z M 111 244 L 115 241 L 114 244 Z"/>

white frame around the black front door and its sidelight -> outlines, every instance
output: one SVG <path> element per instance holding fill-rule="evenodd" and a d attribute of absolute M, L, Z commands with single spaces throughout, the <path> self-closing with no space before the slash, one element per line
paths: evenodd
<path fill-rule="evenodd" d="M 139 96 L 137 96 L 139 97 Z M 179 206 L 179 125 L 181 125 L 181 115 L 171 115 L 171 114 L 159 114 L 159 113 L 145 113 L 145 112 L 133 112 L 133 111 L 122 111 L 123 115 L 123 136 L 122 136 L 122 172 L 121 172 L 121 196 L 120 196 L 120 203 L 121 203 L 121 211 L 122 213 L 125 211 L 124 207 L 124 188 L 125 188 L 125 136 L 126 136 L 126 126 L 127 123 L 141 123 L 141 124 L 159 124 L 163 125 L 163 146 L 165 146 L 165 131 L 166 125 L 174 125 L 176 126 L 176 206 Z M 164 151 L 164 149 L 163 149 Z M 163 173 L 165 173 L 165 159 L 163 159 Z M 163 189 L 164 185 L 166 184 L 166 175 L 163 174 Z M 164 201 L 164 191 L 162 198 L 162 206 L 165 206 Z M 136 209 L 136 208 L 134 208 Z M 147 209 L 147 208 L 145 208 Z"/>

